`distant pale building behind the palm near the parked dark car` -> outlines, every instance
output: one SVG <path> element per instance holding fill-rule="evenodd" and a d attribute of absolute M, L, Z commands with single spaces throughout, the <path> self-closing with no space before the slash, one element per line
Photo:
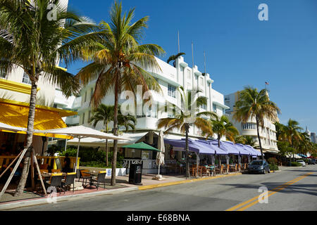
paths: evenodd
<path fill-rule="evenodd" d="M 235 103 L 239 101 L 239 91 L 225 95 L 225 105 L 230 107 L 230 109 L 225 110 L 226 115 L 229 117 L 230 121 L 237 127 L 240 135 L 251 136 L 256 142 L 256 148 L 259 148 L 259 139 L 256 131 L 256 119 L 249 118 L 247 123 L 241 123 L 233 120 L 233 112 L 235 111 Z M 263 148 L 263 153 L 278 153 L 278 141 L 276 139 L 276 129 L 275 122 L 278 122 L 278 117 L 271 121 L 268 119 L 264 120 L 264 128 L 259 127 L 261 145 Z"/>

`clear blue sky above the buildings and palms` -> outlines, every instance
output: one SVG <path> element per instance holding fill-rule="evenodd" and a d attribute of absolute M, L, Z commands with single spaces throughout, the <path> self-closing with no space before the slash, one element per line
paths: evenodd
<path fill-rule="evenodd" d="M 259 4 L 268 5 L 268 21 L 258 18 Z M 99 23 L 109 22 L 113 1 L 69 0 L 70 8 Z M 185 61 L 206 70 L 213 89 L 231 94 L 269 82 L 271 100 L 282 110 L 282 123 L 292 118 L 317 131 L 317 1 L 316 0 L 123 0 L 135 7 L 135 20 L 149 15 L 142 43 L 159 44 L 167 60 L 180 51 Z M 84 64 L 75 63 L 76 73 Z"/>

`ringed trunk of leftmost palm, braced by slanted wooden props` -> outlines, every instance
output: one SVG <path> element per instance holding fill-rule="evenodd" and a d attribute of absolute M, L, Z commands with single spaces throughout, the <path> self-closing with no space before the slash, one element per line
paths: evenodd
<path fill-rule="evenodd" d="M 29 117 L 27 121 L 27 142 L 25 146 L 25 148 L 27 148 L 27 153 L 25 153 L 25 160 L 23 162 L 23 172 L 22 172 L 18 187 L 15 190 L 15 194 L 14 194 L 15 197 L 18 197 L 23 193 L 25 184 L 27 181 L 27 175 L 29 174 L 30 150 L 31 150 L 30 146 L 32 144 L 32 139 L 33 139 L 36 101 L 37 101 L 37 84 L 35 82 L 32 82 L 31 96 L 30 96 L 30 110 L 29 110 Z"/>

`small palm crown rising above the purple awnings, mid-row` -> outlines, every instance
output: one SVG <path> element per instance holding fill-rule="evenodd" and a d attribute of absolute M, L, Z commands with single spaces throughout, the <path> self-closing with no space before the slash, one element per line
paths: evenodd
<path fill-rule="evenodd" d="M 220 148 L 220 139 L 222 136 L 225 136 L 226 139 L 230 141 L 235 141 L 235 136 L 239 134 L 239 131 L 232 122 L 225 115 L 219 117 L 218 115 L 215 118 L 211 118 L 209 121 L 210 128 L 209 133 L 206 134 L 206 138 L 217 134 L 218 147 Z M 212 130 L 212 132 L 210 132 Z"/>

